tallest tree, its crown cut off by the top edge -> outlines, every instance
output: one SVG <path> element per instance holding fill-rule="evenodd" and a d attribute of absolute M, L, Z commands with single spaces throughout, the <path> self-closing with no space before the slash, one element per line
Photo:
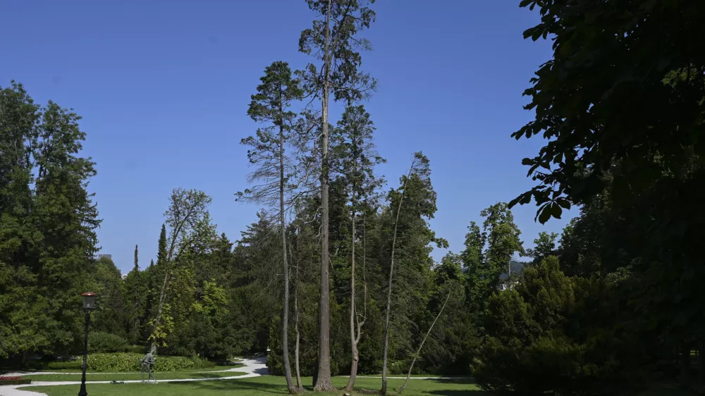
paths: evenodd
<path fill-rule="evenodd" d="M 367 5 L 374 0 L 306 0 L 321 16 L 303 30 L 299 51 L 315 56 L 322 65 L 310 63 L 300 73 L 307 92 L 321 100 L 321 291 L 319 295 L 319 369 L 314 390 L 331 391 L 330 290 L 329 290 L 329 96 L 348 102 L 360 100 L 374 89 L 374 80 L 358 70 L 360 50 L 369 49 L 357 33 L 369 27 L 375 13 Z"/>

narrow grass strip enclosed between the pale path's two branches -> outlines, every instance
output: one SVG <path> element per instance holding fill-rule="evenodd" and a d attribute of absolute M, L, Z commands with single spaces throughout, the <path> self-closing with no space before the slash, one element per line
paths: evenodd
<path fill-rule="evenodd" d="M 164 373 L 154 373 L 154 377 L 158 380 L 178 380 L 183 378 L 220 378 L 243 376 L 245 373 L 238 371 L 209 371 L 207 373 L 199 373 L 201 370 L 193 371 L 170 371 Z M 80 381 L 80 373 L 71 374 L 37 374 L 34 376 L 24 376 L 24 379 L 33 381 Z M 140 373 L 86 373 L 88 381 L 111 381 L 111 380 L 141 380 Z"/>

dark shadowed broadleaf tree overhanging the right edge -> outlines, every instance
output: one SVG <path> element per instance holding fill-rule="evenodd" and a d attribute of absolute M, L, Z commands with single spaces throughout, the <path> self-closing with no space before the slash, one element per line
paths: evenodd
<path fill-rule="evenodd" d="M 545 140 L 523 160 L 536 185 L 512 203 L 534 199 L 544 223 L 571 204 L 608 197 L 617 221 L 610 228 L 620 228 L 617 262 L 629 262 L 639 285 L 631 288 L 630 301 L 639 301 L 632 307 L 651 319 L 644 326 L 658 318 L 668 329 L 663 337 L 688 349 L 705 327 L 698 248 L 705 227 L 705 57 L 692 44 L 705 39 L 705 7 L 688 0 L 521 5 L 541 13 L 525 38 L 550 35 L 553 56 L 525 90 L 534 119 L 513 134 Z M 605 265 L 612 264 L 577 269 L 603 272 Z"/>

